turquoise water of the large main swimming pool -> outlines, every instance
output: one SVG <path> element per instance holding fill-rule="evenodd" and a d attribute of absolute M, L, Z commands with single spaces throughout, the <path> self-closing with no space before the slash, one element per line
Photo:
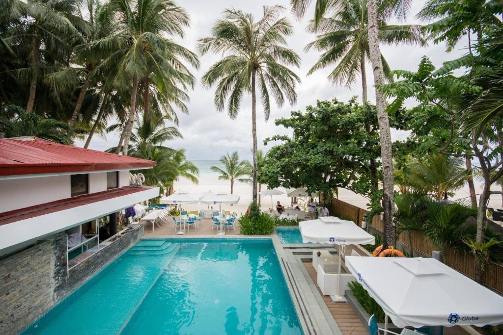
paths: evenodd
<path fill-rule="evenodd" d="M 271 240 L 143 240 L 25 334 L 302 334 Z"/>

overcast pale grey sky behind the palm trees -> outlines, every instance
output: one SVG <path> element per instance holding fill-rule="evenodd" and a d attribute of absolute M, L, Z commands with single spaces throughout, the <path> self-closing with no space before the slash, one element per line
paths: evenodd
<path fill-rule="evenodd" d="M 301 66 L 295 69 L 302 82 L 297 86 L 297 104 L 290 106 L 285 104 L 278 108 L 271 102 L 271 116 L 268 122 L 265 122 L 263 109 L 260 103 L 257 104 L 257 132 L 259 149 L 265 151 L 270 148 L 264 147 L 263 140 L 266 137 L 275 134 L 288 134 L 283 127 L 276 127 L 274 120 L 282 117 L 288 117 L 292 110 L 305 110 L 307 105 L 316 103 L 316 100 L 332 99 L 337 97 L 339 100 L 347 101 L 353 95 L 361 96 L 361 81 L 358 80 L 351 88 L 344 86 L 333 86 L 326 77 L 332 68 L 319 70 L 313 75 L 306 77 L 307 71 L 318 58 L 316 52 L 305 53 L 304 46 L 311 42 L 315 36 L 305 32 L 307 21 L 314 12 L 311 6 L 308 15 L 302 21 L 296 21 L 289 11 L 289 0 L 261 0 L 261 1 L 231 1 L 231 0 L 212 0 L 197 1 L 186 0 L 177 2 L 183 6 L 190 14 L 191 28 L 186 29 L 186 35 L 179 42 L 185 47 L 196 51 L 197 40 L 210 34 L 215 21 L 222 17 L 222 12 L 226 8 L 234 7 L 245 12 L 253 13 L 256 18 L 260 18 L 263 6 L 272 6 L 276 4 L 283 5 L 287 10 L 283 13 L 288 17 L 294 26 L 294 35 L 288 38 L 288 46 L 294 49 L 301 58 Z M 414 16 L 421 9 L 424 2 L 415 0 L 412 2 L 411 14 L 407 23 L 420 23 Z M 394 22 L 390 22 L 394 23 Z M 454 59 L 465 53 L 464 44 L 453 52 L 446 53 L 445 45 L 434 45 L 429 43 L 428 47 L 418 46 L 386 46 L 381 45 L 381 52 L 388 61 L 392 69 L 416 70 L 421 57 L 428 56 L 435 66 L 440 66 L 446 60 Z M 201 57 L 201 67 L 199 70 L 193 69 L 193 74 L 197 78 L 193 91 L 189 91 L 191 101 L 188 103 L 189 115 L 179 113 L 180 132 L 184 138 L 165 143 L 176 149 L 186 149 L 189 159 L 219 159 L 226 152 L 238 151 L 241 158 L 250 159 L 251 143 L 251 98 L 246 96 L 241 104 L 239 116 L 235 120 L 230 120 L 226 113 L 217 113 L 213 104 L 214 88 L 206 89 L 201 85 L 201 76 L 221 55 L 208 53 Z M 375 102 L 373 75 L 371 67 L 367 66 L 367 80 L 369 100 Z M 258 99 L 258 102 L 260 99 Z M 409 104 L 413 103 L 412 101 Z M 393 140 L 403 139 L 404 133 L 393 132 Z M 95 137 L 91 143 L 91 149 L 105 150 L 117 145 L 118 134 L 108 134 L 107 139 Z M 77 145 L 82 146 L 81 143 Z"/>

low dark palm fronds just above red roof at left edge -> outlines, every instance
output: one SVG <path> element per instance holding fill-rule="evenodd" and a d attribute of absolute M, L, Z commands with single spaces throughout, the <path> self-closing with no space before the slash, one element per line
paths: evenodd
<path fill-rule="evenodd" d="M 0 137 L 36 136 L 56 143 L 73 144 L 73 132 L 67 123 L 26 113 L 17 106 L 10 106 L 9 109 L 9 113 L 15 116 L 0 118 Z"/>

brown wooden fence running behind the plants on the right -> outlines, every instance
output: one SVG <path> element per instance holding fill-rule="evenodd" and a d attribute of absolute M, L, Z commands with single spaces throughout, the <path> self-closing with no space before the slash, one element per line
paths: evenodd
<path fill-rule="evenodd" d="M 364 219 L 367 211 L 339 199 L 333 199 L 330 212 L 333 215 L 351 219 L 361 227 L 362 219 Z M 371 226 L 382 234 L 384 226 L 379 215 L 373 217 Z M 410 232 L 410 236 L 408 232 L 403 232 L 398 236 L 398 241 L 407 245 L 406 248 L 411 243 L 415 250 L 420 251 L 426 256 L 431 256 L 432 251 L 435 249 L 432 243 L 421 232 Z M 405 251 L 409 252 L 408 249 Z M 472 279 L 475 277 L 475 257 L 472 254 L 448 250 L 446 257 L 447 264 L 451 268 Z M 503 293 L 503 264 L 489 261 L 485 267 L 482 283 L 499 293 Z"/>

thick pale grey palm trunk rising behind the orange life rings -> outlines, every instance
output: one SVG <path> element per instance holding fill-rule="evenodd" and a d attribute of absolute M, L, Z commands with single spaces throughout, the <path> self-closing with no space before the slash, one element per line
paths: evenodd
<path fill-rule="evenodd" d="M 379 50 L 379 35 L 377 23 L 377 0 L 369 0 L 368 3 L 369 20 L 369 49 L 370 60 L 374 72 L 375 85 L 384 84 L 384 71 L 382 67 L 381 53 Z M 391 148 L 391 134 L 389 128 L 389 118 L 386 113 L 386 100 L 384 94 L 376 87 L 376 107 L 377 121 L 379 124 L 379 137 L 381 143 L 381 161 L 383 174 L 383 224 L 384 224 L 384 246 L 394 243 L 393 229 L 393 153 Z"/>

